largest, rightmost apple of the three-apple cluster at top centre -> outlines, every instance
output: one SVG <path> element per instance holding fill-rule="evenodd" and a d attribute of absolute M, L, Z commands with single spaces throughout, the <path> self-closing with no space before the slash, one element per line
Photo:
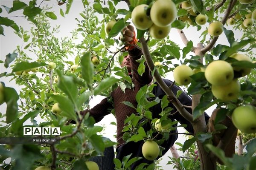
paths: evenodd
<path fill-rule="evenodd" d="M 169 26 L 177 18 L 175 3 L 172 0 L 157 0 L 151 7 L 150 18 L 157 26 Z"/>

